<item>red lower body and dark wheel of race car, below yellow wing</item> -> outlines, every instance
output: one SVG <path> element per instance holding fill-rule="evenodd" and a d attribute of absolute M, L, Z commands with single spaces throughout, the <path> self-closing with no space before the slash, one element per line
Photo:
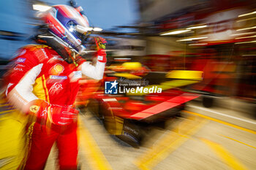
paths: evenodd
<path fill-rule="evenodd" d="M 176 117 L 187 101 L 197 97 L 181 90 L 167 90 L 160 96 L 152 93 L 140 98 L 105 96 L 101 92 L 95 94 L 89 107 L 110 134 L 138 147 L 142 138 L 140 128 Z"/>

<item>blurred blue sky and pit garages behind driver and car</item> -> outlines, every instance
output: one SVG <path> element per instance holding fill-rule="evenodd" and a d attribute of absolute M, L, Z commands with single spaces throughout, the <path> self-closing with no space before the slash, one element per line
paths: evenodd
<path fill-rule="evenodd" d="M 154 72 L 203 71 L 195 90 L 255 102 L 255 1 L 77 2 L 91 26 L 103 29 L 109 65 L 124 58 Z M 1 63 L 31 43 L 36 12 L 59 3 L 68 1 L 1 1 Z"/>

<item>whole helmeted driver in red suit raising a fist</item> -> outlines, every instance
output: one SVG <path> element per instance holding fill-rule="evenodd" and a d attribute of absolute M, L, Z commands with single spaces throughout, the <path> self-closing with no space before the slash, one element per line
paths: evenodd
<path fill-rule="evenodd" d="M 98 37 L 97 63 L 80 57 L 86 51 L 89 21 L 80 7 L 56 5 L 41 14 L 45 23 L 35 40 L 18 51 L 7 74 L 8 101 L 28 115 L 28 154 L 19 169 L 44 169 L 53 143 L 59 149 L 59 169 L 77 169 L 78 110 L 73 107 L 82 74 L 103 77 L 105 39 Z"/>

